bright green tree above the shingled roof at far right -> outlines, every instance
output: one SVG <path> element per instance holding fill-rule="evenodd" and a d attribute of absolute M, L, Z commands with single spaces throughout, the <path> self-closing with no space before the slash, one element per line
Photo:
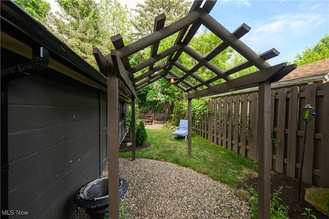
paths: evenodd
<path fill-rule="evenodd" d="M 297 56 L 295 56 L 295 63 L 297 65 L 305 65 L 326 58 L 329 58 L 328 34 L 325 34 L 324 37 L 312 48 L 306 47 L 306 49 L 302 51 L 302 54 L 297 53 Z"/>

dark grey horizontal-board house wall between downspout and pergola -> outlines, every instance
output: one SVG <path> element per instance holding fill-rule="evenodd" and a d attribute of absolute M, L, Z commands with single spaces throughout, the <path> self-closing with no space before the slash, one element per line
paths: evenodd
<path fill-rule="evenodd" d="M 51 69 L 9 83 L 9 210 L 70 218 L 74 193 L 100 173 L 99 122 L 96 88 Z"/>

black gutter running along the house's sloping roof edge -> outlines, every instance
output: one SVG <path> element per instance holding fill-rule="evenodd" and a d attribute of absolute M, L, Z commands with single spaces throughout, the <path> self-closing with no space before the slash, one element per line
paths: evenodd
<path fill-rule="evenodd" d="M 106 77 L 12 1 L 1 1 L 1 30 L 33 49 L 46 47 L 52 59 L 106 87 Z"/>

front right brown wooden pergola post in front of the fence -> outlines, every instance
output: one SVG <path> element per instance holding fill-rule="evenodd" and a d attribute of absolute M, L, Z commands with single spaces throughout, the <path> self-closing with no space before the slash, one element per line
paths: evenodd
<path fill-rule="evenodd" d="M 271 84 L 259 83 L 258 218 L 270 218 L 270 106 Z"/>

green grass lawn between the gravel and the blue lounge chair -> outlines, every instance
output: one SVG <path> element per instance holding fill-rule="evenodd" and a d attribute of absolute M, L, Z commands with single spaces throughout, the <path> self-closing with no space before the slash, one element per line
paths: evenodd
<path fill-rule="evenodd" d="M 147 130 L 149 148 L 136 151 L 136 159 L 147 158 L 176 163 L 207 174 L 234 188 L 236 182 L 257 173 L 257 165 L 250 159 L 221 148 L 219 145 L 192 134 L 192 157 L 188 156 L 188 142 L 173 140 L 172 130 Z M 120 157 L 132 157 L 132 152 L 121 152 Z"/>

